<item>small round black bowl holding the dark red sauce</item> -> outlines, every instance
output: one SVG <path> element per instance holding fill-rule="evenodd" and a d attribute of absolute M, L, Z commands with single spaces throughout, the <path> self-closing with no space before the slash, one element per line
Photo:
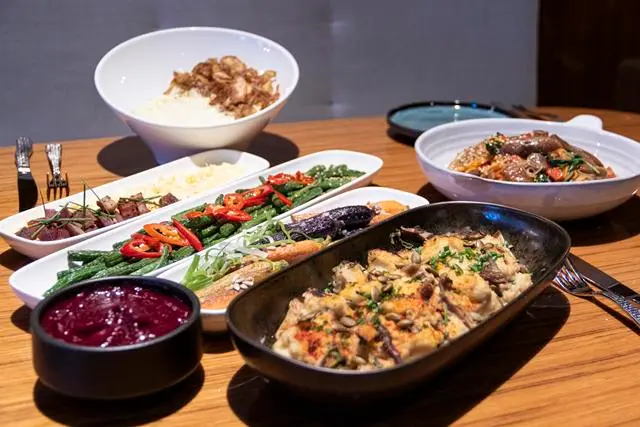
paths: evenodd
<path fill-rule="evenodd" d="M 188 320 L 166 335 L 144 343 L 89 347 L 53 338 L 41 325 L 48 307 L 61 298 L 99 285 L 131 284 L 180 298 L 191 308 Z M 33 365 L 40 381 L 68 396 L 125 399 L 142 396 L 188 377 L 202 357 L 202 324 L 198 298 L 177 283 L 154 277 L 109 277 L 88 280 L 41 301 L 31 313 Z"/>

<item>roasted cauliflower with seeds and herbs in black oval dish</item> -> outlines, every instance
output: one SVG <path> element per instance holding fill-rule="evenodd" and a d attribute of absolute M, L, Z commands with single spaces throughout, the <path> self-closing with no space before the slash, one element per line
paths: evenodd
<path fill-rule="evenodd" d="M 366 265 L 343 261 L 324 290 L 289 303 L 273 350 L 314 366 L 375 370 L 432 352 L 531 286 L 500 232 L 401 228 Z"/>

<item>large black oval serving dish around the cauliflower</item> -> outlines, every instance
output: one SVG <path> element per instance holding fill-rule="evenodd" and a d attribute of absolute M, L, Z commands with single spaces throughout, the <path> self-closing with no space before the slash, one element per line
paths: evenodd
<path fill-rule="evenodd" d="M 400 226 L 419 225 L 427 231 L 459 231 L 465 226 L 482 232 L 499 230 L 512 251 L 533 274 L 533 285 L 486 322 L 426 356 L 396 367 L 351 372 L 318 368 L 270 350 L 273 335 L 289 301 L 307 288 L 323 289 L 331 269 L 343 260 L 366 265 L 367 251 L 390 245 Z M 374 397 L 417 385 L 456 361 L 516 317 L 551 282 L 569 252 L 569 235 L 542 217 L 498 205 L 470 202 L 437 203 L 412 209 L 311 256 L 238 296 L 227 308 L 234 345 L 245 362 L 268 379 L 306 394 Z"/>

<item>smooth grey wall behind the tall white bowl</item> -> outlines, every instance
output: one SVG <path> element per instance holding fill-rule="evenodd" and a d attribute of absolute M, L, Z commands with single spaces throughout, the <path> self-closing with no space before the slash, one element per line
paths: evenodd
<path fill-rule="evenodd" d="M 239 28 L 283 44 L 301 79 L 278 120 L 297 121 L 430 99 L 534 104 L 537 24 L 537 0 L 0 0 L 0 145 L 130 133 L 93 71 L 159 28 Z"/>

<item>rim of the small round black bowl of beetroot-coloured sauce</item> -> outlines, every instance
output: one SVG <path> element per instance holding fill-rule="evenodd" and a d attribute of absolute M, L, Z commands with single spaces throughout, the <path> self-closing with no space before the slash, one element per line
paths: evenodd
<path fill-rule="evenodd" d="M 147 287 L 147 288 L 160 288 L 160 287 L 170 287 L 173 290 L 176 290 L 178 293 L 182 293 L 185 299 L 189 301 L 191 304 L 191 314 L 186 322 L 182 325 L 178 326 L 168 334 L 156 337 L 149 341 L 144 341 L 135 344 L 127 344 L 113 347 L 95 347 L 88 345 L 80 345 L 80 344 L 72 344 L 66 341 L 57 339 L 49 335 L 42 325 L 40 324 L 40 318 L 45 309 L 49 307 L 52 303 L 58 301 L 58 299 L 71 294 L 77 293 L 81 288 L 89 288 L 94 286 L 99 286 L 101 284 L 113 283 L 118 281 L 128 281 L 128 282 L 137 282 L 136 286 Z M 29 318 L 29 325 L 31 328 L 31 333 L 34 337 L 38 337 L 38 339 L 46 342 L 49 345 L 60 347 L 62 349 L 66 349 L 69 351 L 83 351 L 87 353 L 121 353 L 127 351 L 135 351 L 140 348 L 150 347 L 153 345 L 161 344 L 164 341 L 168 341 L 171 338 L 175 337 L 188 330 L 195 322 L 198 322 L 200 319 L 200 300 L 198 297 L 186 287 L 176 283 L 172 280 L 161 279 L 159 277 L 153 276 L 112 276 L 112 277 L 104 277 L 100 279 L 89 279 L 84 280 L 82 282 L 75 283 L 69 287 L 60 289 L 59 291 L 51 294 L 47 298 L 43 299 L 36 305 L 36 307 L 31 312 L 31 316 Z"/>

